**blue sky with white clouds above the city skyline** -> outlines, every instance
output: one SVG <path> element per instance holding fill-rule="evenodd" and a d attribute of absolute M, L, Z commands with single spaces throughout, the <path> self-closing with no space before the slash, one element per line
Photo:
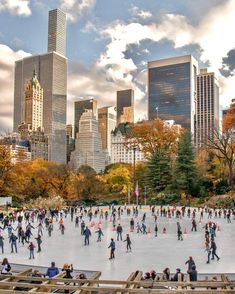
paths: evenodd
<path fill-rule="evenodd" d="M 235 0 L 0 0 L 0 130 L 12 128 L 14 62 L 46 52 L 56 7 L 68 17 L 68 123 L 79 97 L 113 105 L 129 87 L 146 117 L 146 63 L 171 56 L 216 72 L 223 107 L 235 97 Z"/>

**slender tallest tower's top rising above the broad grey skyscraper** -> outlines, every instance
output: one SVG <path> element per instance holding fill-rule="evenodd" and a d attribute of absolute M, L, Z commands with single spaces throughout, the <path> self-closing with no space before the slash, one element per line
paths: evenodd
<path fill-rule="evenodd" d="M 60 9 L 49 11 L 48 52 L 65 56 L 66 51 L 66 14 Z"/>

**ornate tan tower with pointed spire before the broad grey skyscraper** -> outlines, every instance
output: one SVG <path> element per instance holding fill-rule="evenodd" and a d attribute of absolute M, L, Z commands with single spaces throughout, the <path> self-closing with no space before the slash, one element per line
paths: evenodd
<path fill-rule="evenodd" d="M 32 79 L 25 83 L 25 119 L 32 131 L 42 129 L 43 121 L 43 89 L 34 71 Z"/>

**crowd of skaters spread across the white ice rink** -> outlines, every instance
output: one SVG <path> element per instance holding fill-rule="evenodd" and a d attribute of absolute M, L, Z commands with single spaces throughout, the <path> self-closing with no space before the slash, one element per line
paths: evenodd
<path fill-rule="evenodd" d="M 61 235 L 66 234 L 65 219 L 70 218 L 70 226 L 80 228 L 80 233 L 84 238 L 84 246 L 89 246 L 91 238 L 91 228 L 96 227 L 95 234 L 97 234 L 97 242 L 102 242 L 104 232 L 102 231 L 102 221 L 110 222 L 116 238 L 111 238 L 108 249 L 110 249 L 109 259 L 115 259 L 116 242 L 123 241 L 126 245 L 126 252 L 132 252 L 132 241 L 130 233 L 150 234 L 150 228 L 146 225 L 146 218 L 153 218 L 154 222 L 154 236 L 158 237 L 159 227 L 158 218 L 175 218 L 176 222 L 176 236 L 179 241 L 183 241 L 183 235 L 187 234 L 186 228 L 181 228 L 180 221 L 183 218 L 189 218 L 192 223 L 191 231 L 197 231 L 196 216 L 199 218 L 199 223 L 203 219 L 207 219 L 205 228 L 205 250 L 207 252 L 207 263 L 218 257 L 215 243 L 216 231 L 219 226 L 216 225 L 216 219 L 225 218 L 228 223 L 231 223 L 232 216 L 234 216 L 233 209 L 211 209 L 211 208 L 187 208 L 187 207 L 156 207 L 150 206 L 150 214 L 146 212 L 141 214 L 141 205 L 132 207 L 110 205 L 108 209 L 102 207 L 66 207 L 62 210 L 24 210 L 18 212 L 10 212 L 7 214 L 0 214 L 0 248 L 4 254 L 4 248 L 9 243 L 11 253 L 18 253 L 18 244 L 26 245 L 29 250 L 29 259 L 35 258 L 35 250 L 38 253 L 42 251 L 43 238 L 53 237 L 54 226 L 59 227 Z M 121 218 L 126 214 L 130 218 L 129 232 L 125 233 L 121 225 Z M 212 220 L 213 219 L 213 220 Z M 96 225 L 95 225 L 96 220 Z M 67 222 L 68 225 L 68 222 Z M 2 231 L 7 231 L 8 241 L 3 237 Z M 167 228 L 162 228 L 162 234 L 167 234 Z M 211 257 L 212 256 L 212 257 Z"/>

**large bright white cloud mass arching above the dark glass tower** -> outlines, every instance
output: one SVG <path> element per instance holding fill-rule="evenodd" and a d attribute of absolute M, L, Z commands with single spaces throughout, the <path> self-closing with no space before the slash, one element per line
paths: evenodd
<path fill-rule="evenodd" d="M 133 6 L 136 15 L 139 8 Z M 205 14 L 198 25 L 191 25 L 182 15 L 166 14 L 156 23 L 140 24 L 139 22 L 114 22 L 104 28 L 100 34 L 109 40 L 105 51 L 97 61 L 97 66 L 105 68 L 107 77 L 114 82 L 124 82 L 135 88 L 137 101 L 142 101 L 142 91 L 138 87 L 137 66 L 125 53 L 131 45 L 140 45 L 144 40 L 158 42 L 170 40 L 175 48 L 198 44 L 201 48 L 201 61 L 208 62 L 210 69 L 219 75 L 222 59 L 235 47 L 232 38 L 235 27 L 235 1 L 212 8 Z M 144 64 L 144 63 L 141 63 Z M 219 76 L 221 85 L 221 103 L 235 96 L 235 77 L 231 74 L 227 79 Z M 142 105 L 141 105 L 142 106 Z M 138 105 L 137 105 L 138 107 Z"/>

